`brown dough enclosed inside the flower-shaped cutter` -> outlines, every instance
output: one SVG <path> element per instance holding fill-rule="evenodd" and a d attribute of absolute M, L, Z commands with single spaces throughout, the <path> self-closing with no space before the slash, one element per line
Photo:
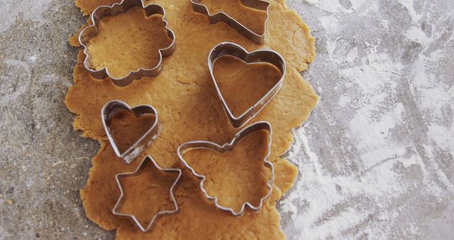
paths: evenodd
<path fill-rule="evenodd" d="M 140 21 L 143 20 L 135 16 L 145 17 L 145 11 L 141 7 L 135 7 L 131 11 L 135 14 L 130 18 L 110 16 L 102 18 L 98 23 L 99 35 L 94 36 L 87 43 L 92 67 L 95 70 L 106 68 L 112 77 L 122 78 L 140 68 L 154 68 L 161 60 L 159 50 L 168 48 L 172 44 L 172 39 L 166 34 L 161 15 L 150 16 L 146 21 L 148 24 L 142 25 Z M 128 35 L 131 38 L 117 37 L 121 31 L 125 31 L 118 26 L 124 25 L 130 26 Z M 146 41 L 143 41 L 142 36 L 147 36 Z M 106 53 L 104 45 L 110 46 L 109 52 Z M 123 45 L 131 45 L 131 48 L 121 48 Z M 128 58 L 131 55 L 135 58 Z"/>

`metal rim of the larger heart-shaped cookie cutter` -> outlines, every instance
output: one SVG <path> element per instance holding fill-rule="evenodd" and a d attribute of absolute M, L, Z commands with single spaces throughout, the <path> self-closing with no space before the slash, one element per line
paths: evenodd
<path fill-rule="evenodd" d="M 269 53 L 269 54 L 275 55 L 277 58 L 279 58 L 281 60 L 282 64 L 279 67 L 278 65 L 273 64 L 272 62 L 269 62 L 266 60 L 256 61 L 256 62 L 247 62 L 246 60 L 244 60 L 242 58 L 238 58 L 236 55 L 233 55 L 232 51 L 221 53 L 221 55 L 218 55 L 216 58 L 212 59 L 212 56 L 214 55 L 214 53 L 216 53 L 216 50 L 218 50 L 218 48 L 222 48 L 224 46 L 229 46 L 230 48 L 236 48 L 236 49 L 242 51 L 243 53 L 245 53 L 246 57 L 257 54 L 257 53 Z M 241 60 L 242 62 L 245 62 L 247 65 L 252 65 L 252 64 L 260 63 L 260 62 L 269 63 L 269 64 L 277 67 L 279 72 L 281 72 L 280 79 L 273 85 L 273 87 L 270 88 L 270 90 L 268 90 L 257 102 L 255 102 L 255 104 L 253 104 L 253 106 L 251 106 L 248 109 L 246 109 L 245 111 L 243 111 L 243 113 L 240 114 L 239 116 L 235 116 L 233 114 L 231 108 L 228 107 L 226 99 L 223 97 L 221 88 L 218 85 L 218 81 L 216 80 L 216 77 L 214 76 L 214 64 L 216 63 L 216 61 L 219 58 L 221 58 L 225 55 L 228 55 L 228 56 L 231 56 L 238 60 Z M 284 84 L 285 75 L 287 74 L 287 63 L 285 62 L 282 55 L 277 53 L 275 50 L 263 50 L 263 49 L 260 50 L 259 49 L 259 50 L 254 50 L 252 52 L 248 52 L 248 50 L 243 48 L 241 45 L 238 45 L 236 43 L 231 43 L 231 42 L 219 43 L 218 45 L 214 46 L 213 49 L 211 49 L 209 56 L 208 56 L 208 67 L 209 67 L 209 71 L 210 71 L 210 75 L 211 75 L 211 80 L 214 82 L 214 87 L 216 88 L 216 92 L 218 94 L 219 99 L 221 99 L 221 103 L 222 103 L 224 112 L 226 113 L 227 118 L 230 121 L 231 125 L 237 129 L 242 126 L 245 126 L 245 124 L 248 124 L 248 122 L 251 119 L 253 119 L 255 116 L 257 116 L 260 113 L 260 111 L 262 111 L 262 109 L 264 109 L 266 107 L 266 105 L 268 103 L 270 103 L 271 100 L 276 97 L 276 95 L 279 93 L 280 89 L 282 88 L 282 86 Z"/>

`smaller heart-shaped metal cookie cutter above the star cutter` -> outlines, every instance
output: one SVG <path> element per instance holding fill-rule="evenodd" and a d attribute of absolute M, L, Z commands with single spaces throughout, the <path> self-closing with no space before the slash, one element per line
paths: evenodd
<path fill-rule="evenodd" d="M 152 114 L 155 116 L 155 121 L 153 125 L 148 129 L 146 133 L 141 136 L 138 141 L 136 141 L 128 150 L 123 153 L 118 149 L 118 146 L 115 143 L 114 132 L 111 129 L 112 119 L 114 114 L 118 111 L 129 111 L 131 114 L 134 114 L 136 117 L 143 116 L 146 114 Z M 127 164 L 131 163 L 134 158 L 140 155 L 150 144 L 157 138 L 160 133 L 161 126 L 159 121 L 157 121 L 157 111 L 154 107 L 150 105 L 139 105 L 137 107 L 131 108 L 128 104 L 115 100 L 108 102 L 104 105 L 101 110 L 101 119 L 102 124 L 104 125 L 104 130 L 106 131 L 107 138 L 111 143 L 112 148 L 118 158 L 123 159 Z"/>

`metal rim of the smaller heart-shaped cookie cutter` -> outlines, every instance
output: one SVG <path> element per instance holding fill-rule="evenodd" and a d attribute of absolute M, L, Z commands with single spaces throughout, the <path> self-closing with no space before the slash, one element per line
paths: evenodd
<path fill-rule="evenodd" d="M 114 104 L 117 104 L 117 106 L 114 107 L 114 109 L 110 109 L 110 111 L 109 111 L 109 107 L 111 107 Z M 106 124 L 107 120 L 109 119 L 110 112 L 114 111 L 114 113 L 115 113 L 116 109 L 123 109 L 125 111 L 128 111 L 131 114 L 134 114 L 135 117 L 138 117 L 138 116 L 142 116 L 143 114 L 137 115 L 134 110 L 141 109 L 141 108 L 150 109 L 150 112 L 145 113 L 145 114 L 153 114 L 155 116 L 155 121 L 153 121 L 153 125 L 150 126 L 150 128 L 145 133 L 143 133 L 143 135 L 140 136 L 140 138 L 138 138 L 138 140 L 135 141 L 135 143 L 133 143 L 133 145 L 128 147 L 128 149 L 126 151 L 121 152 L 117 146 L 117 143 L 115 142 L 114 134 L 111 131 L 111 126 L 110 126 L 111 124 Z M 113 114 L 112 114 L 112 116 L 113 116 Z M 151 105 L 146 105 L 146 104 L 141 104 L 141 105 L 137 105 L 135 107 L 131 107 L 128 104 L 126 104 L 126 102 L 122 102 L 120 100 L 113 100 L 113 101 L 107 102 L 106 104 L 104 104 L 104 107 L 101 109 L 101 121 L 104 126 L 104 131 L 106 132 L 106 136 L 109 139 L 109 142 L 111 143 L 112 148 L 114 149 L 115 155 L 118 158 L 121 158 L 121 160 L 123 160 L 123 162 L 126 164 L 132 163 L 133 160 L 137 156 L 140 155 L 140 153 L 145 151 L 145 148 L 150 146 L 150 144 L 153 141 L 155 141 L 155 139 L 157 138 L 157 136 L 159 136 L 160 131 L 161 131 L 161 124 L 159 123 L 159 120 L 158 120 L 157 110 L 155 109 L 155 107 L 153 107 Z M 157 132 L 155 134 L 153 134 L 152 136 L 150 136 L 150 134 L 153 133 L 153 131 L 156 128 L 157 128 Z M 141 145 L 140 143 L 145 140 L 145 138 L 150 138 L 150 141 L 148 141 L 148 143 L 143 146 L 139 146 L 139 145 Z"/>

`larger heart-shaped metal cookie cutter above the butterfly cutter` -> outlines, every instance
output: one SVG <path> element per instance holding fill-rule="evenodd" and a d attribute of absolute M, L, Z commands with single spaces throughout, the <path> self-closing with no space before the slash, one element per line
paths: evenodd
<path fill-rule="evenodd" d="M 239 60 L 243 60 L 248 64 L 257 63 L 257 62 L 267 62 L 275 67 L 281 72 L 280 80 L 273 86 L 270 91 L 268 91 L 257 103 L 246 110 L 240 116 L 234 116 L 231 109 L 228 107 L 226 99 L 224 99 L 221 89 L 218 86 L 218 82 L 216 82 L 216 77 L 214 77 L 213 67 L 216 63 L 218 58 L 221 58 L 224 55 L 233 56 L 238 58 Z M 241 47 L 236 43 L 220 43 L 216 45 L 208 57 L 208 66 L 211 73 L 211 79 L 214 82 L 214 86 L 216 87 L 216 92 L 218 92 L 218 97 L 221 99 L 222 106 L 224 111 L 226 111 L 228 120 L 230 121 L 231 125 L 235 128 L 240 128 L 244 124 L 247 124 L 250 119 L 253 119 L 255 115 L 257 115 L 270 101 L 273 99 L 277 92 L 284 84 L 284 77 L 286 72 L 286 65 L 284 58 L 282 56 L 273 51 L 273 50 L 257 50 L 254 52 L 249 53 L 245 48 Z"/>

